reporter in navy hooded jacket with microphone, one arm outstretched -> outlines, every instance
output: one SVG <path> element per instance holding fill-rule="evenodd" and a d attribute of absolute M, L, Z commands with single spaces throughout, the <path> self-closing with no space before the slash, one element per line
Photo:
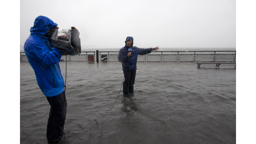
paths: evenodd
<path fill-rule="evenodd" d="M 122 70 L 124 73 L 123 82 L 123 94 L 127 95 L 133 93 L 133 85 L 136 76 L 137 69 L 137 57 L 138 55 L 144 55 L 151 53 L 151 51 L 157 51 L 159 48 L 138 48 L 133 46 L 133 37 L 127 37 L 125 46 L 119 50 L 118 61 L 122 62 Z"/>

